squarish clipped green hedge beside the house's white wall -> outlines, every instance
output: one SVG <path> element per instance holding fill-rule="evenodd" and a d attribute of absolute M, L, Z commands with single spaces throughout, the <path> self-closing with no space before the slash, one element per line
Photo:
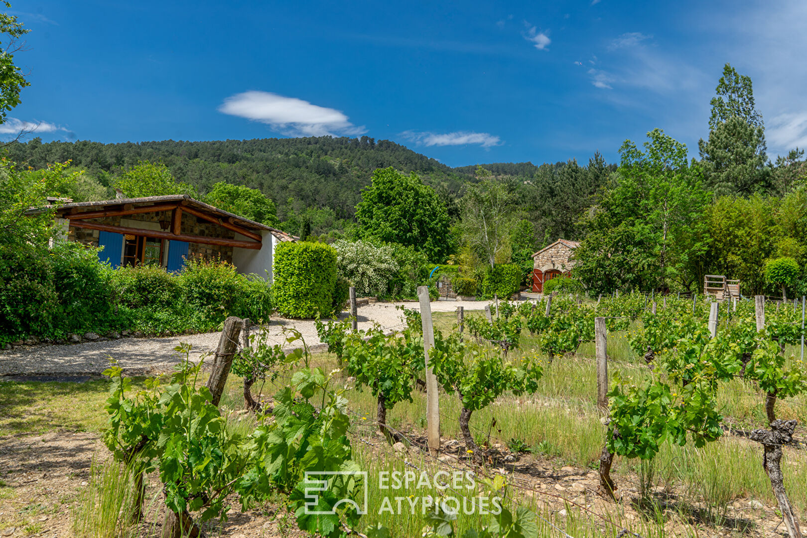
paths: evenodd
<path fill-rule="evenodd" d="M 324 243 L 281 243 L 274 258 L 274 300 L 289 318 L 312 319 L 333 311 L 337 249 Z"/>

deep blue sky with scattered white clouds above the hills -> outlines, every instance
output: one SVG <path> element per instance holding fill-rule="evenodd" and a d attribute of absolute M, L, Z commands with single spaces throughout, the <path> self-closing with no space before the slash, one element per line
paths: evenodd
<path fill-rule="evenodd" d="M 776 6 L 772 4 L 776 3 Z M 730 62 L 771 156 L 807 145 L 807 2 L 13 2 L 43 140 L 366 134 L 447 165 L 697 154 Z M 2 131 L 2 129 L 0 129 Z"/>

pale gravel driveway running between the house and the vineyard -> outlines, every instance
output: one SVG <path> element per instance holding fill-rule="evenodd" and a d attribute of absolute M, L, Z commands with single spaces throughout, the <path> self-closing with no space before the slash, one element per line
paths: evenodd
<path fill-rule="evenodd" d="M 420 310 L 417 302 L 377 302 L 359 307 L 358 327 L 369 328 L 373 323 L 378 323 L 387 329 L 401 328 L 402 314 L 395 310 L 400 304 Z M 459 306 L 466 310 L 483 310 L 486 304 L 489 302 L 437 301 L 432 302 L 432 311 L 454 311 Z M 340 318 L 345 317 L 347 313 L 343 312 Z M 276 336 L 270 340 L 276 344 L 284 342 L 286 336 L 281 334 L 283 327 L 295 327 L 303 334 L 309 347 L 320 344 L 314 322 L 299 319 L 272 319 L 269 334 Z M 219 332 L 207 332 L 165 338 L 124 338 L 84 344 L 16 347 L 0 352 L 0 380 L 2 376 L 9 375 L 98 375 L 107 369 L 113 359 L 128 375 L 168 372 L 180 360 L 174 351 L 180 342 L 193 346 L 190 358 L 195 361 L 216 348 L 219 336 Z"/>

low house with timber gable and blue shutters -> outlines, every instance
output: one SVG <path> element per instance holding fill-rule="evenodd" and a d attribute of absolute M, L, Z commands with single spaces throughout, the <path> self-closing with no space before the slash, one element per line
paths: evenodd
<path fill-rule="evenodd" d="M 271 282 L 275 247 L 295 240 L 186 194 L 64 203 L 55 216 L 65 239 L 102 247 L 99 260 L 115 268 L 153 264 L 178 271 L 190 256 L 220 258 Z"/>

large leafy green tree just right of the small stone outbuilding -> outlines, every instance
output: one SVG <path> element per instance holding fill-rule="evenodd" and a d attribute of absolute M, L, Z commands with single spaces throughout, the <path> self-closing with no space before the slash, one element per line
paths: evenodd
<path fill-rule="evenodd" d="M 647 136 L 644 152 L 625 141 L 613 184 L 580 221 L 585 236 L 575 248 L 575 276 L 594 293 L 702 281 L 710 195 L 684 144 L 659 129 Z"/>

